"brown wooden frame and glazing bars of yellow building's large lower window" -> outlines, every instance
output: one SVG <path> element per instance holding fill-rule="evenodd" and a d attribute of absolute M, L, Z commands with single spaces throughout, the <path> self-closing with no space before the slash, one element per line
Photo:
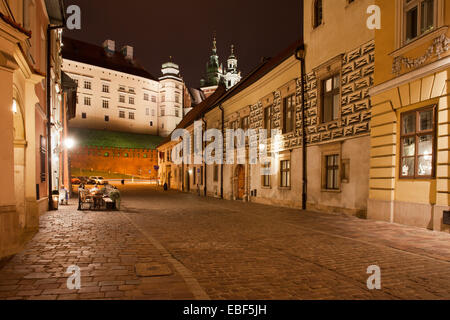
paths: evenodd
<path fill-rule="evenodd" d="M 432 120 L 432 128 L 430 130 L 420 130 L 420 113 L 424 112 L 424 111 L 432 111 L 432 116 L 433 116 L 433 120 Z M 403 133 L 403 119 L 410 115 L 410 114 L 415 114 L 415 130 L 414 133 L 407 133 L 404 134 Z M 430 180 L 430 179 L 435 179 L 436 177 L 436 160 L 437 160 L 437 155 L 436 155 L 436 143 L 437 143 L 437 139 L 436 139 L 436 133 L 437 133 L 437 105 L 436 104 L 432 104 L 432 105 L 428 105 L 425 107 L 421 107 L 418 109 L 414 109 L 414 110 L 410 110 L 410 111 L 406 111 L 401 113 L 400 115 L 400 154 L 399 154 L 399 170 L 398 170 L 398 176 L 400 180 Z M 431 169 L 431 175 L 419 175 L 418 174 L 418 158 L 419 158 L 419 137 L 420 136 L 428 136 L 431 135 L 432 136 L 432 169 Z M 403 151 L 404 151 L 404 146 L 403 146 L 403 139 L 408 138 L 408 137 L 414 137 L 414 175 L 412 176 L 404 176 L 402 174 L 402 167 L 403 167 L 403 159 L 404 158 L 411 158 L 411 157 L 404 157 L 403 156 Z"/>

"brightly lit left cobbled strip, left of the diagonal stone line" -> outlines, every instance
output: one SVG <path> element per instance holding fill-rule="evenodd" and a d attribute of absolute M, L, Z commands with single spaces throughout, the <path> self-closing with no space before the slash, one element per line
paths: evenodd
<path fill-rule="evenodd" d="M 72 203 L 41 217 L 39 233 L 0 270 L 0 299 L 194 298 L 168 257 L 122 213 L 76 209 Z M 67 288 L 72 265 L 81 270 L 80 290 Z"/>

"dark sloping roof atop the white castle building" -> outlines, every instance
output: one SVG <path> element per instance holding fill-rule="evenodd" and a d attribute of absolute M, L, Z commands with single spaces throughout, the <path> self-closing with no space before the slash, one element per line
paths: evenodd
<path fill-rule="evenodd" d="M 108 54 L 101 46 L 67 37 L 63 37 L 63 44 L 62 55 L 64 59 L 156 80 L 135 59 L 127 60 L 120 52 L 115 51 Z"/>

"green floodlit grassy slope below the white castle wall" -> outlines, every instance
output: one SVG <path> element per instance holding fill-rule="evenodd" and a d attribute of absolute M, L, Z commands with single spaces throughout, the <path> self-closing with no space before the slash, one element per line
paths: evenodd
<path fill-rule="evenodd" d="M 78 145 L 85 147 L 156 149 L 163 139 L 149 134 L 70 128 L 70 135 Z"/>

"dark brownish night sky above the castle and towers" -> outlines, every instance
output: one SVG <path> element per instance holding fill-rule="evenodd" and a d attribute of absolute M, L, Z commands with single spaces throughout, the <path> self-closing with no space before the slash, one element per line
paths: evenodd
<path fill-rule="evenodd" d="M 301 36 L 301 0 L 65 0 L 81 8 L 81 30 L 65 35 L 101 45 L 106 39 L 134 47 L 154 76 L 173 56 L 189 86 L 198 87 L 217 33 L 225 65 L 235 45 L 239 69 L 251 71 Z"/>

